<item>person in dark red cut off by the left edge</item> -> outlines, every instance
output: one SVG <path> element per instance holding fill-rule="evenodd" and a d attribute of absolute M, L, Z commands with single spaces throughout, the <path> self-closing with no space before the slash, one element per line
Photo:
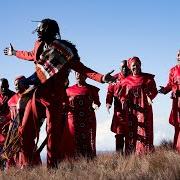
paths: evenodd
<path fill-rule="evenodd" d="M 6 131 L 11 120 L 8 100 L 14 95 L 14 92 L 9 90 L 8 80 L 0 79 L 0 151 L 3 150 L 3 145 L 6 138 Z M 2 162 L 3 163 L 3 162 Z"/>

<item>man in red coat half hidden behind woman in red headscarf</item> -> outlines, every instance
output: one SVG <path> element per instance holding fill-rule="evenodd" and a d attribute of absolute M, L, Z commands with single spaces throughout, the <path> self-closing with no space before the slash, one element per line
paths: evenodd
<path fill-rule="evenodd" d="M 111 83 L 108 86 L 108 92 L 106 96 L 106 107 L 107 111 L 112 106 L 114 100 L 114 114 L 111 123 L 111 131 L 114 132 L 116 139 L 116 151 L 123 154 L 124 149 L 124 138 L 126 134 L 126 120 L 124 112 L 122 110 L 122 104 L 119 97 L 115 96 L 116 91 L 121 86 L 121 81 L 129 75 L 129 68 L 127 67 L 127 60 L 123 60 L 120 64 L 120 73 L 116 74 L 117 80 L 115 83 Z"/>

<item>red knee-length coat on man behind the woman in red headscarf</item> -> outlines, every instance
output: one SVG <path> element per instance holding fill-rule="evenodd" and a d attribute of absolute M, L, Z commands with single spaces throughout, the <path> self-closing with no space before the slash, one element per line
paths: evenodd
<path fill-rule="evenodd" d="M 112 105 L 114 100 L 114 114 L 111 123 L 111 131 L 116 134 L 125 134 L 127 123 L 124 117 L 124 112 L 122 110 L 119 94 L 117 96 L 117 91 L 119 91 L 121 81 L 125 77 L 122 73 L 116 74 L 115 77 L 118 77 L 116 83 L 112 83 L 108 86 L 106 104 Z"/>

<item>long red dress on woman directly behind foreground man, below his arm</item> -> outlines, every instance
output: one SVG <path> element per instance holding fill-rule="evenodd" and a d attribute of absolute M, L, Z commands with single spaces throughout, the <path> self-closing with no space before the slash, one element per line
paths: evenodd
<path fill-rule="evenodd" d="M 96 117 L 92 105 L 100 106 L 98 91 L 89 84 L 67 88 L 69 111 L 60 146 L 62 156 L 96 156 Z"/>

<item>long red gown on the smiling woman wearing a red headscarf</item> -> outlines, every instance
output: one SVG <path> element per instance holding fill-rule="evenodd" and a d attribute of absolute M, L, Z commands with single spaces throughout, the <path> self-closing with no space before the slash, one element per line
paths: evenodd
<path fill-rule="evenodd" d="M 126 137 L 126 152 L 135 151 L 142 154 L 154 149 L 153 147 L 153 112 L 148 103 L 148 97 L 153 100 L 157 95 L 154 75 L 141 73 L 129 75 L 122 82 L 128 120 Z"/>

